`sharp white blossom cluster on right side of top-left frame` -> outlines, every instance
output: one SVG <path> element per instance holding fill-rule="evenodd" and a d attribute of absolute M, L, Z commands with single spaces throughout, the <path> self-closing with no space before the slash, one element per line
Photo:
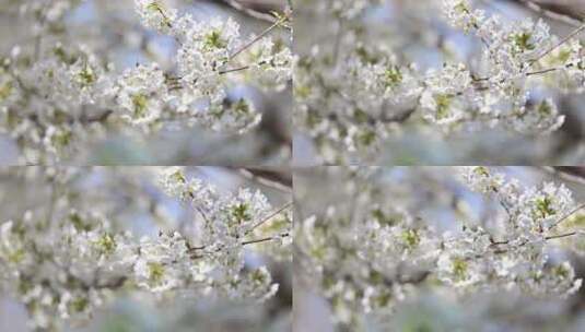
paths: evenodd
<path fill-rule="evenodd" d="M 136 5 L 145 26 L 169 34 L 179 43 L 178 76 L 171 78 L 171 105 L 178 114 L 188 114 L 192 122 L 214 130 L 247 131 L 260 122 L 261 116 L 248 99 L 225 107 L 225 75 L 234 76 L 232 82 L 242 78 L 262 82 L 262 87 L 272 91 L 283 90 L 291 78 L 290 49 L 284 44 L 277 49 L 270 37 L 251 36 L 247 42 L 232 19 L 196 21 L 189 14 L 166 10 L 162 1 L 136 1 Z M 284 23 L 280 19 L 272 28 Z"/>

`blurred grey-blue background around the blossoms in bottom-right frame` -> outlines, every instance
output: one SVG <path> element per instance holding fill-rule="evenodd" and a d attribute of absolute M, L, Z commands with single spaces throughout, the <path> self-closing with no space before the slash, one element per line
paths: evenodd
<path fill-rule="evenodd" d="M 523 186 L 542 181 L 564 183 L 573 191 L 575 202 L 585 201 L 585 168 L 494 167 L 519 179 Z M 313 214 L 323 215 L 328 206 L 354 211 L 358 192 L 372 190 L 368 204 L 405 208 L 413 217 L 431 223 L 437 232 L 485 225 L 503 216 L 498 202 L 469 191 L 454 167 L 316 167 L 294 173 L 295 223 Z M 363 205 L 362 205 L 363 206 Z M 348 214 L 351 217 L 351 214 Z M 583 213 L 581 214 L 583 216 Z M 583 217 L 580 225 L 583 227 Z M 583 244 L 583 238 L 578 239 Z M 581 246 L 585 248 L 585 246 Z M 547 249 L 551 260 L 569 260 L 576 277 L 585 276 L 585 251 L 564 250 L 562 244 Z M 302 258 L 302 254 L 299 256 Z M 294 261 L 293 331 L 350 331 L 335 328 L 327 300 L 312 284 L 301 259 Z M 455 297 L 440 287 L 419 287 L 414 297 L 399 303 L 388 322 L 366 319 L 367 332 L 529 332 L 585 330 L 585 288 L 568 299 L 537 299 L 517 292 L 478 293 Z"/>

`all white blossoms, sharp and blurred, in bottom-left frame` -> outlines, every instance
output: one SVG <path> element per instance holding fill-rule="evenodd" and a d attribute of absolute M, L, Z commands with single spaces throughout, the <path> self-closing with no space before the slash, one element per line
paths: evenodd
<path fill-rule="evenodd" d="M 272 211 L 260 192 L 224 195 L 180 169 L 164 173 L 163 187 L 199 213 L 190 233 L 136 239 L 97 213 L 62 203 L 54 217 L 28 211 L 0 225 L 0 289 L 26 305 L 34 328 L 87 320 L 121 289 L 258 301 L 277 293 L 265 266 L 245 265 L 244 250 L 290 254 L 290 213 Z"/>

